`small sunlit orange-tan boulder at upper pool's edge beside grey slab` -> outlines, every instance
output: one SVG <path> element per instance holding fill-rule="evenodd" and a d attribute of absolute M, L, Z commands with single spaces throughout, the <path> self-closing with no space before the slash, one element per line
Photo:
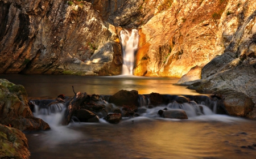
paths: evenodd
<path fill-rule="evenodd" d="M 184 83 L 185 81 L 193 81 L 201 79 L 201 67 L 195 66 L 192 67 L 187 74 L 181 76 L 177 84 Z"/>

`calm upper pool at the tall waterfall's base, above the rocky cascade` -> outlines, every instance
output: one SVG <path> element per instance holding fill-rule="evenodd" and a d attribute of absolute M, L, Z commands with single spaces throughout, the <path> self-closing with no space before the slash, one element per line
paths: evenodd
<path fill-rule="evenodd" d="M 198 94 L 185 87 L 172 85 L 176 78 L 149 78 L 138 76 L 66 76 L 66 75 L 0 75 L 14 84 L 22 84 L 29 97 L 73 96 L 76 92 L 114 94 L 121 89 L 137 90 L 139 94 Z"/>

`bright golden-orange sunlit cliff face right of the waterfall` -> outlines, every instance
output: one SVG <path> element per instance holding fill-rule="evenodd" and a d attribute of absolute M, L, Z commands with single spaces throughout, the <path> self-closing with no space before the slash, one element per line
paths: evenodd
<path fill-rule="evenodd" d="M 225 51 L 236 53 L 237 58 L 250 58 L 248 61 L 253 63 L 255 3 L 173 1 L 139 31 L 135 75 L 180 78 L 192 67 L 203 67 Z"/>

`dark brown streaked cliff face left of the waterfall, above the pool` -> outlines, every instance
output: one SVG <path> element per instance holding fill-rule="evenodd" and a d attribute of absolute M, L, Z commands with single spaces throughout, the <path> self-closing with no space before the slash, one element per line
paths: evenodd
<path fill-rule="evenodd" d="M 0 1 L 0 73 L 117 75 L 115 27 L 84 1 Z"/>

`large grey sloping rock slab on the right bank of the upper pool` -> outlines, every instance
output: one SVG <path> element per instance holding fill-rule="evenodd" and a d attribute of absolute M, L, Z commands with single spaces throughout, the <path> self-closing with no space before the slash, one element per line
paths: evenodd
<path fill-rule="evenodd" d="M 236 111 L 230 112 L 230 114 L 243 117 L 256 104 L 256 85 L 254 81 L 256 81 L 256 63 L 249 66 L 237 66 L 210 76 L 207 81 L 200 83 L 196 87 L 196 91 L 227 96 L 224 100 L 226 105 L 233 101 L 234 103 L 231 103 L 234 104 L 234 108 L 238 108 L 238 105 L 241 108 L 234 109 Z M 233 108 L 231 107 L 230 109 Z"/>

